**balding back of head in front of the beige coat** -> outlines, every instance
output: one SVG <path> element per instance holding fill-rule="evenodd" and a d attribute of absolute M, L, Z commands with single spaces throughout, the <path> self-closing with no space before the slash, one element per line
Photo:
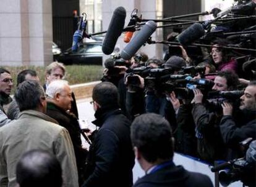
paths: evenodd
<path fill-rule="evenodd" d="M 20 187 L 61 187 L 62 170 L 55 156 L 46 151 L 31 150 L 17 164 L 17 183 Z"/>

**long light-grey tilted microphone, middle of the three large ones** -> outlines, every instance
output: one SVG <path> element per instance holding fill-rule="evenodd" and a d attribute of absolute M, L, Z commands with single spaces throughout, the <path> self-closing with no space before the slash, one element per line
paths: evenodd
<path fill-rule="evenodd" d="M 137 50 L 139 50 L 140 47 L 142 47 L 142 45 L 145 44 L 145 42 L 147 42 L 148 38 L 151 36 L 151 34 L 155 32 L 155 30 L 156 23 L 153 21 L 148 21 L 142 27 L 139 33 L 137 33 L 134 36 L 132 41 L 130 41 L 129 44 L 127 44 L 127 46 L 124 47 L 124 49 L 121 52 L 121 57 L 124 60 L 129 60 L 130 58 L 132 58 L 137 52 Z"/>

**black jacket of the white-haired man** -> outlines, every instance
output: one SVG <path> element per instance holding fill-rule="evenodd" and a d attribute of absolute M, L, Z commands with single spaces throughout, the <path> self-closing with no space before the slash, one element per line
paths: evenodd
<path fill-rule="evenodd" d="M 79 183 L 82 183 L 84 180 L 83 174 L 88 151 L 82 148 L 80 127 L 77 121 L 77 117 L 75 117 L 74 114 L 67 113 L 51 102 L 47 103 L 46 114 L 58 121 L 59 125 L 65 127 L 69 131 L 69 135 L 74 146 L 75 160 L 77 161 Z"/>

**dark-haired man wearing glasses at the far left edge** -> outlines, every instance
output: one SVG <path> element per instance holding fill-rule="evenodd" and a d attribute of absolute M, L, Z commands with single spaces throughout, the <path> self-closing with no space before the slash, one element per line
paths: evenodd
<path fill-rule="evenodd" d="M 4 105 L 11 103 L 12 98 L 10 97 L 13 81 L 11 73 L 3 68 L 0 68 L 0 109 L 4 111 Z"/>

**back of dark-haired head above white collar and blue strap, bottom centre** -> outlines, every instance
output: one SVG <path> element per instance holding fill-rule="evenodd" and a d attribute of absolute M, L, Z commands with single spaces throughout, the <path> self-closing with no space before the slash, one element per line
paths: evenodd
<path fill-rule="evenodd" d="M 148 113 L 134 119 L 131 126 L 132 145 L 150 163 L 173 158 L 173 134 L 163 116 Z"/>

